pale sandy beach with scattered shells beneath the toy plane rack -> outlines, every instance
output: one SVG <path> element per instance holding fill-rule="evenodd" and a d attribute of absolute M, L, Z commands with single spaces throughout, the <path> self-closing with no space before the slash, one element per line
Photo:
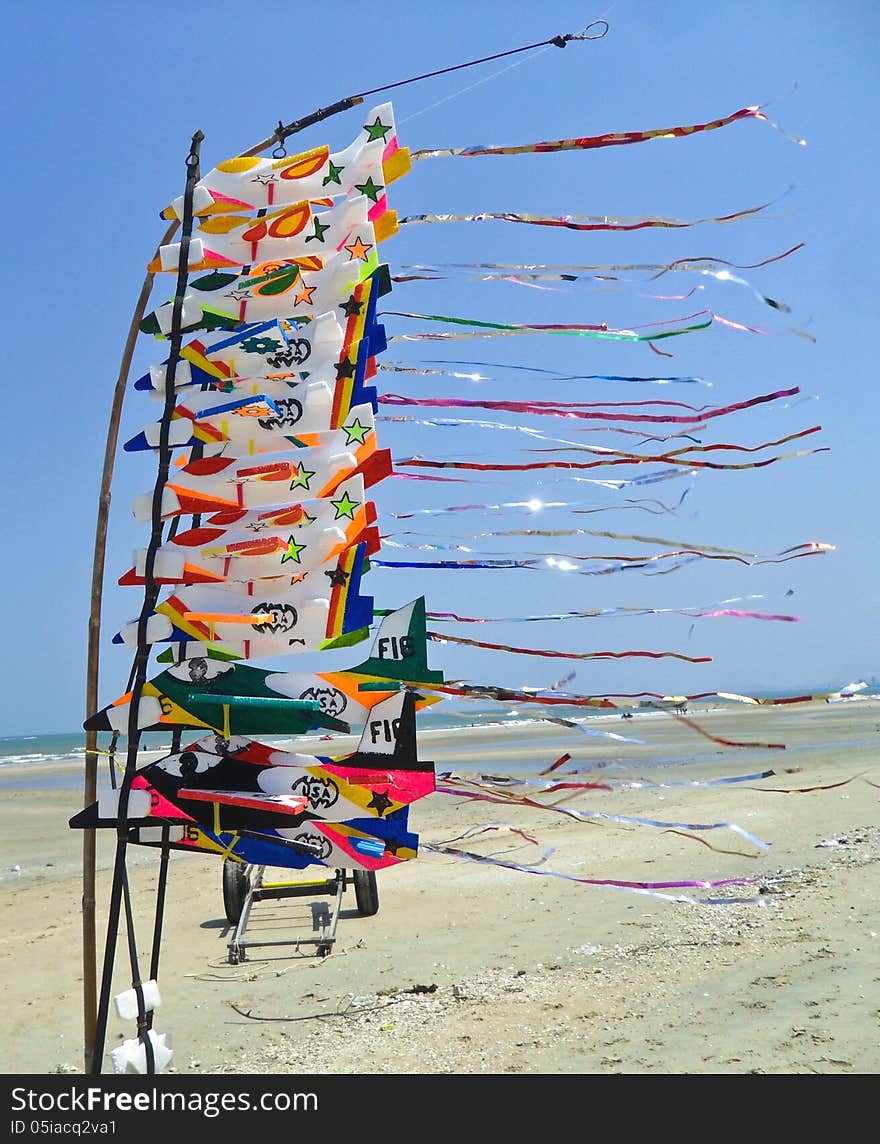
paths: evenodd
<path fill-rule="evenodd" d="M 257 903 L 230 961 L 221 863 L 173 852 L 154 1019 L 173 1039 L 168 1071 L 880 1072 L 880 704 L 688 717 L 696 728 L 657 714 L 597 724 L 643 745 L 549 723 L 420 733 L 438 786 L 459 793 L 414 804 L 419 857 L 379 873 L 373 916 L 346 891 L 326 956 L 306 942 L 331 903 L 303 896 Z M 485 784 L 439 778 L 563 753 L 609 788 L 549 809 L 475 801 L 461 792 Z M 0 1071 L 81 1073 L 82 835 L 68 827 L 81 774 L 25 771 L 0 773 Z M 97 848 L 100 971 L 112 832 Z M 145 968 L 159 852 L 128 856 Z M 578 879 L 748 881 L 636 892 Z M 122 931 L 113 993 L 129 985 Z M 111 1007 L 104 1073 L 133 1034 Z"/>

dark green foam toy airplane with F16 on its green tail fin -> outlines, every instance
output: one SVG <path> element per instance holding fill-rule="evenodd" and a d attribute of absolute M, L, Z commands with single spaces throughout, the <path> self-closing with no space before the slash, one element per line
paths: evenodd
<path fill-rule="evenodd" d="M 213 730 L 231 734 L 304 734 L 323 728 L 348 731 L 363 724 L 376 704 L 402 685 L 436 684 L 443 673 L 428 667 L 425 597 L 389 613 L 379 626 L 370 656 L 338 672 L 265 670 L 212 657 L 196 641 L 175 645 L 176 662 L 144 684 L 137 729 Z M 417 696 L 417 710 L 437 702 Z M 87 731 L 127 732 L 132 692 L 82 724 Z"/>

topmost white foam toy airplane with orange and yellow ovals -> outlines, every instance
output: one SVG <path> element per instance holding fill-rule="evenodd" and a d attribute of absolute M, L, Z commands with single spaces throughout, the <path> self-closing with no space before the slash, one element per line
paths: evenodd
<path fill-rule="evenodd" d="M 338 198 L 357 191 L 380 201 L 386 186 L 410 170 L 407 148 L 397 144 L 390 103 L 373 108 L 362 130 L 342 151 L 327 145 L 284 158 L 236 156 L 219 164 L 196 184 L 192 209 L 198 217 L 263 210 L 306 199 Z M 162 219 L 183 217 L 183 196 Z"/>

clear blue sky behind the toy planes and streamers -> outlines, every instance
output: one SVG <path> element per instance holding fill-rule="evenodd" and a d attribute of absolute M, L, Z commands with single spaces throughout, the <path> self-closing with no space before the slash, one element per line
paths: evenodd
<path fill-rule="evenodd" d="M 794 693 L 880 674 L 871 339 L 880 86 L 880 15 L 874 3 L 847 0 L 829 8 L 793 0 L 620 0 L 585 8 L 569 2 L 390 0 L 366 9 L 348 2 L 319 8 L 264 0 L 248 9 L 227 0 L 208 8 L 165 0 L 10 0 L 3 19 L 7 174 L 1 193 L 16 237 L 16 264 L 2 284 L 7 394 L 13 399 L 2 423 L 7 541 L 0 734 L 72 730 L 86 715 L 95 522 L 112 391 L 145 263 L 164 230 L 159 210 L 183 191 L 183 161 L 193 133 L 204 133 L 201 165 L 207 170 L 270 135 L 279 119 L 288 122 L 346 95 L 577 32 L 601 18 L 609 23 L 601 40 L 522 53 L 370 96 L 363 108 L 291 140 L 288 151 L 324 142 L 333 150 L 346 146 L 360 126 L 362 112 L 387 98 L 394 102 L 401 144 L 413 151 L 647 130 L 767 104 L 770 119 L 788 135 L 803 137 L 806 146 L 766 122 L 746 120 L 691 138 L 633 146 L 429 159 L 415 162 L 390 189 L 390 205 L 402 219 L 516 212 L 690 221 L 771 204 L 752 219 L 625 233 L 490 221 L 410 224 L 386 244 L 382 255 L 395 273 L 414 263 L 592 267 L 695 257 L 756 263 L 796 244 L 803 247 L 763 268 L 735 270 L 746 285 L 692 272 L 650 281 L 647 272 L 617 271 L 617 280 L 609 281 L 582 270 L 576 283 L 536 289 L 478 281 L 454 269 L 437 281 L 401 283 L 380 309 L 520 324 L 604 321 L 612 328 L 651 326 L 697 311 L 709 311 L 716 320 L 700 333 L 658 342 L 672 352 L 666 358 L 644 343 L 568 335 L 396 341 L 403 334 L 449 327 L 389 315 L 384 324 L 391 341 L 383 363 L 443 368 L 428 359 L 481 362 L 460 368 L 491 380 L 383 372 L 380 392 L 721 406 L 798 387 L 796 397 L 709 421 L 698 436 L 703 443 L 754 446 L 820 424 L 822 431 L 804 440 L 754 455 L 827 451 L 761 469 L 703 471 L 637 488 L 609 490 L 574 482 L 558 470 L 487 474 L 461 484 L 389 479 L 373 493 L 382 531 L 397 543 L 463 545 L 471 556 L 490 558 L 668 550 L 656 542 L 587 534 L 479 535 L 574 527 L 660 538 L 671 547 L 704 553 L 712 547 L 771 557 L 812 540 L 834 550 L 752 566 L 700 558 L 663 575 L 640 570 L 582 575 L 552 567 L 376 567 L 364 587 L 378 607 L 398 606 L 423 594 L 433 611 L 492 621 L 507 618 L 431 625 L 467 638 L 572 652 L 642 649 L 712 658 L 709 664 L 674 658 L 572 662 L 436 645 L 433 666 L 450 678 L 547 686 L 573 669 L 566 686 L 579 693 Z M 161 286 L 153 295 L 157 303 L 165 300 L 159 297 Z M 791 312 L 768 307 L 758 294 L 786 303 Z M 722 319 L 762 333 L 734 329 Z M 164 356 L 162 343 L 142 335 L 132 380 Z M 529 368 L 510 368 L 514 365 Z M 562 382 L 539 370 L 691 376 L 711 386 Z M 547 437 L 609 448 L 639 440 L 609 431 L 585 434 L 571 422 L 546 416 L 388 406 L 379 412 L 524 426 Z M 117 579 L 130 565 L 132 550 L 148 539 L 133 519 L 130 501 L 152 487 L 146 459 L 122 453 L 121 442 L 156 415 L 144 395 L 129 387 L 109 518 L 102 704 L 125 689 L 130 668 L 129 653 L 113 648 L 111 639 L 136 617 L 140 589 L 119 587 Z M 530 442 L 521 431 L 490 424 L 380 421 L 378 430 L 396 459 L 419 454 L 522 462 L 549 455 L 525 451 L 550 443 Z M 753 459 L 745 453 L 731 456 L 738 462 Z M 660 468 L 644 463 L 587 475 L 629 479 Z M 648 498 L 663 503 L 649 505 Z M 568 507 L 539 515 L 522 509 L 455 513 L 415 523 L 398 517 L 413 508 L 531 499 Z M 574 514 L 574 508 L 601 511 Z M 425 534 L 404 534 L 414 530 Z M 389 546 L 383 556 L 433 559 L 467 554 Z M 727 607 L 800 619 L 677 614 L 726 601 L 739 601 Z M 621 607 L 655 614 L 514 621 Z M 354 664 L 360 650 L 333 653 L 327 666 Z M 319 669 L 324 664 L 312 657 L 308 665 L 264 666 Z"/>

